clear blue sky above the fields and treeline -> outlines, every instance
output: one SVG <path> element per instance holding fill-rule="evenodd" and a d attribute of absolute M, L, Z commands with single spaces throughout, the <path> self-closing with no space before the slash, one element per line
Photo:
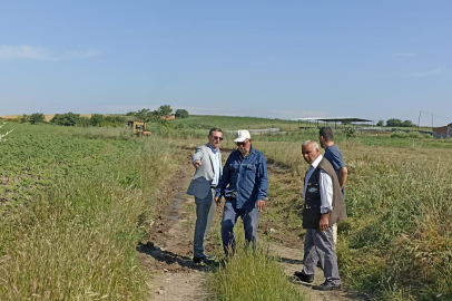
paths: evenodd
<path fill-rule="evenodd" d="M 3 0 L 0 10 L 0 115 L 170 105 L 452 122 L 452 1 Z"/>

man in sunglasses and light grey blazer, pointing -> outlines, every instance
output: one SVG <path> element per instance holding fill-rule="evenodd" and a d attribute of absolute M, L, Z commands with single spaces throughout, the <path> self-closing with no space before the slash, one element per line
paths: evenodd
<path fill-rule="evenodd" d="M 196 172 L 188 186 L 187 194 L 195 196 L 196 203 L 196 225 L 193 240 L 195 263 L 212 263 L 212 256 L 204 252 L 204 241 L 210 230 L 214 220 L 215 192 L 222 177 L 222 153 L 219 143 L 223 140 L 223 132 L 218 127 L 213 127 L 208 134 L 208 143 L 198 146 L 191 157 Z"/>

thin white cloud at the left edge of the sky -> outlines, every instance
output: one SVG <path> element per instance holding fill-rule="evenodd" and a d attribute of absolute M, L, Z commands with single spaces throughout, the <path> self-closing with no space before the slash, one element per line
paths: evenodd
<path fill-rule="evenodd" d="M 65 54 L 53 54 L 43 47 L 36 46 L 0 46 L 0 60 L 63 60 L 63 59 L 88 59 L 97 57 L 100 51 L 95 49 L 78 49 Z"/>

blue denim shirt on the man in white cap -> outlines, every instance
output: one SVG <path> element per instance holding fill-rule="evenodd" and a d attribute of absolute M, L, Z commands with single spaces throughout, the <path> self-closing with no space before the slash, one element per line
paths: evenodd
<path fill-rule="evenodd" d="M 233 197 L 232 202 L 236 202 L 237 208 L 253 208 L 256 207 L 257 200 L 265 201 L 267 191 L 265 156 L 253 147 L 245 158 L 238 149 L 230 153 L 223 169 L 216 196 Z M 235 200 L 234 196 L 236 196 Z"/>

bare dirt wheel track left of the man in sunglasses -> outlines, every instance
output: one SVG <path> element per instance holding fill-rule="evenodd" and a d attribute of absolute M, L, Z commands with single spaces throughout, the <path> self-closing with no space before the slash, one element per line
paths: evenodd
<path fill-rule="evenodd" d="M 137 247 L 141 262 L 153 270 L 150 300 L 194 301 L 208 297 L 208 268 L 191 260 L 195 202 L 185 192 L 193 172 L 193 165 L 187 159 L 173 183 L 168 183 L 173 193 L 166 197 L 173 202 L 155 221 L 148 241 Z"/>

